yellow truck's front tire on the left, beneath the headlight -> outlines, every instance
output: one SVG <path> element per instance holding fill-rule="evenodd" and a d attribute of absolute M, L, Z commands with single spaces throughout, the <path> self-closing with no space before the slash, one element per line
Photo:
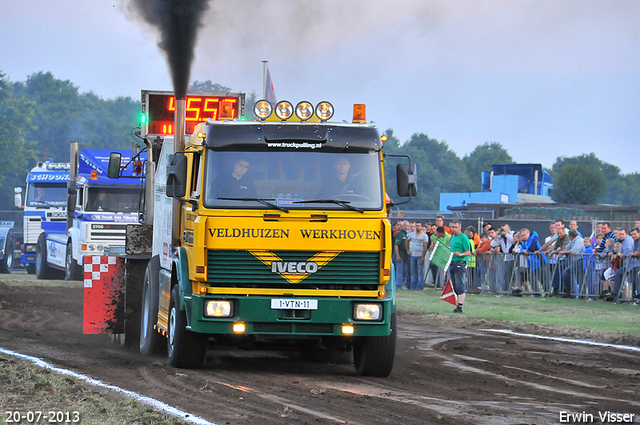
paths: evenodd
<path fill-rule="evenodd" d="M 180 310 L 180 292 L 178 285 L 174 286 L 169 300 L 169 364 L 183 369 L 201 368 L 207 359 L 208 340 L 206 335 L 187 330 L 187 315 Z"/>

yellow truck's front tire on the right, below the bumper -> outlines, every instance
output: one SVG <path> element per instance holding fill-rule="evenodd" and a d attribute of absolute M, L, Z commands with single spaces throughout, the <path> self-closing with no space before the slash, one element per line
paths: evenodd
<path fill-rule="evenodd" d="M 389 336 L 358 337 L 353 345 L 353 361 L 358 375 L 380 378 L 389 376 L 393 369 L 397 338 L 396 313 L 391 314 Z"/>

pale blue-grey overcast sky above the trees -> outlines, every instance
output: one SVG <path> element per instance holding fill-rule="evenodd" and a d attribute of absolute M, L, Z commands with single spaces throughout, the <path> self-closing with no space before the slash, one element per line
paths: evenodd
<path fill-rule="evenodd" d="M 157 34 L 124 0 L 0 0 L 0 71 L 38 71 L 103 98 L 171 90 Z M 638 0 L 211 0 L 191 81 L 328 100 L 446 141 L 499 142 L 551 167 L 594 152 L 640 172 Z M 249 106 L 249 105 L 248 105 Z M 479 178 L 479 176 L 478 176 Z"/>

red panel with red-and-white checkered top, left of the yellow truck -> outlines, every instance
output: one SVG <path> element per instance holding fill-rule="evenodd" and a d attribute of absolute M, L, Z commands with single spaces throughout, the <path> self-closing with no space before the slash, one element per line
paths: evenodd
<path fill-rule="evenodd" d="M 124 260 L 119 257 L 84 257 L 85 334 L 124 333 L 124 271 Z"/>

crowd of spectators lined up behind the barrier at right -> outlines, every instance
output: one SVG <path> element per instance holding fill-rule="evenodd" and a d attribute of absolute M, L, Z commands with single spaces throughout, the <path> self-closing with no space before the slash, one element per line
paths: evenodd
<path fill-rule="evenodd" d="M 454 220 L 445 226 L 442 216 L 435 223 L 394 224 L 397 289 L 443 287 L 451 268 L 445 274 L 429 261 L 430 253 L 438 242 L 449 246 L 459 232 L 470 246 L 463 276 L 467 291 L 640 304 L 640 220 L 630 229 L 601 222 L 591 235 L 583 234 L 576 220 L 556 220 L 544 239 L 535 230 L 514 231 L 508 224 L 485 223 L 480 234 L 472 226 L 457 230 L 459 225 Z"/>

